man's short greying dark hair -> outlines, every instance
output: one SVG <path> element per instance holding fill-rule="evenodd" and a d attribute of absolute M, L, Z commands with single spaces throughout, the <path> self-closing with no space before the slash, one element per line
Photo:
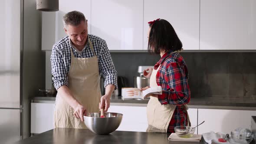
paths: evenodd
<path fill-rule="evenodd" d="M 69 24 L 72 26 L 78 26 L 81 23 L 81 21 L 85 22 L 86 19 L 83 13 L 79 11 L 71 11 L 63 16 L 62 21 L 64 27 L 67 28 Z"/>

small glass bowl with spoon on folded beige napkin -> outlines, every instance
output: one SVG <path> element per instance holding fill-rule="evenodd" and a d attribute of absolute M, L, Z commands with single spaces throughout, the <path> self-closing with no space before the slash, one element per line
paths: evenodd
<path fill-rule="evenodd" d="M 189 126 L 177 126 L 174 127 L 174 131 L 177 134 L 178 137 L 182 138 L 190 138 L 193 137 L 195 128 L 194 127 L 189 127 Z"/>

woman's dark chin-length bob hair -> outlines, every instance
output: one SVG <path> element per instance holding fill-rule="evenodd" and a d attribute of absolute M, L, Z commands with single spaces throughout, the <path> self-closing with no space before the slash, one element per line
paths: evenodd
<path fill-rule="evenodd" d="M 159 54 L 161 51 L 176 51 L 182 49 L 181 40 L 167 20 L 160 19 L 149 24 L 151 30 L 148 36 L 148 52 Z"/>

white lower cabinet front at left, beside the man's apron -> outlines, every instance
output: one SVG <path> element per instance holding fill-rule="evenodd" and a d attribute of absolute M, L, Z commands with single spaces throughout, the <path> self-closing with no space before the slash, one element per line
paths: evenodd
<path fill-rule="evenodd" d="M 54 128 L 54 103 L 31 103 L 31 133 L 39 134 Z"/>

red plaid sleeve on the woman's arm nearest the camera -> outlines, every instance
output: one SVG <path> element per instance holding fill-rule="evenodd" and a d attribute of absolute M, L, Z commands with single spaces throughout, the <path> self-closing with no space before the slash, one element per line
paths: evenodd
<path fill-rule="evenodd" d="M 169 89 L 158 95 L 162 105 L 184 105 L 190 101 L 190 88 L 184 70 L 176 63 L 170 63 L 164 74 L 164 80 L 168 83 Z"/>

